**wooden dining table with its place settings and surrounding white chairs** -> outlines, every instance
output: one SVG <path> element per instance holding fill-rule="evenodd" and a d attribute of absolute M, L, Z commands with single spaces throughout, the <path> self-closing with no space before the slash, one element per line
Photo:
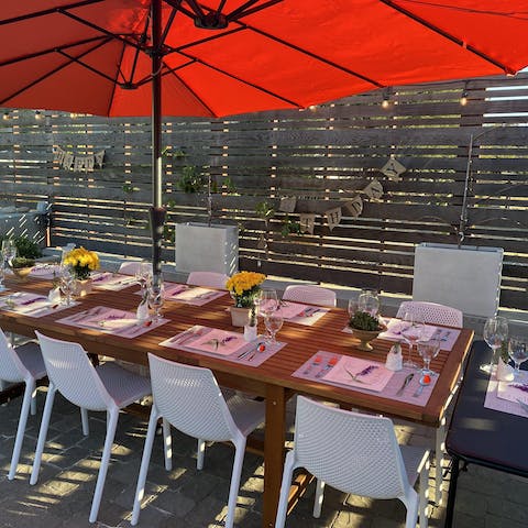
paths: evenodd
<path fill-rule="evenodd" d="M 103 501 L 119 414 L 152 395 L 130 505 L 132 525 L 140 521 L 161 425 L 167 470 L 172 427 L 197 439 L 198 470 L 205 464 L 206 442 L 234 444 L 226 526 L 234 524 L 246 442 L 251 444 L 251 433 L 262 427 L 262 526 L 287 525 L 297 468 L 305 471 L 304 486 L 316 477 L 316 517 L 328 484 L 356 495 L 399 498 L 407 508 L 406 526 L 414 527 L 417 518 L 427 526 L 428 505 L 441 497 L 446 413 L 473 339 L 473 331 L 463 328 L 460 310 L 405 301 L 396 317 L 384 317 L 372 290 L 363 290 L 343 310 L 337 308 L 331 289 L 289 285 L 280 298 L 267 287 L 264 275 L 252 272 L 232 277 L 195 272 L 185 284 L 165 282 L 154 287 L 145 261 L 105 272 L 97 271 L 97 262 L 88 274 L 89 288 L 79 289 L 75 268 L 90 267 L 91 262 L 91 252 L 84 252 L 72 250 L 62 264 L 37 263 L 23 280 L 6 275 L 0 326 L 6 332 L 33 338 L 13 346 L 6 333 L 0 334 L 0 378 L 25 384 L 10 480 L 16 475 L 30 410 L 35 411 L 36 384 L 47 376 L 30 483 L 38 480 L 57 392 L 80 407 L 84 435 L 89 432 L 88 411 L 106 411 L 91 522 Z M 2 260 L 12 257 L 6 244 Z M 243 329 L 233 326 L 230 317 L 233 301 L 249 302 Z M 359 319 L 374 328 L 354 328 Z M 258 333 L 261 321 L 265 333 Z M 503 352 L 503 359 L 509 354 L 517 367 L 515 372 L 504 371 L 506 365 L 497 367 L 498 358 L 482 365 L 482 372 L 487 367 L 488 377 L 491 373 L 485 406 L 526 415 L 528 381 L 518 370 L 528 358 L 526 340 L 508 341 L 501 318 L 486 322 L 484 338 L 494 352 Z M 284 461 L 285 406 L 295 395 L 294 448 Z M 429 449 L 398 446 L 392 419 L 436 431 L 435 486 L 429 486 Z"/>

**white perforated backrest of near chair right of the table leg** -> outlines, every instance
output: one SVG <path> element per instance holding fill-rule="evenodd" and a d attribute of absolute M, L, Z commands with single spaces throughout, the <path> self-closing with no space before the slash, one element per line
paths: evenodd
<path fill-rule="evenodd" d="M 388 418 L 298 396 L 294 451 L 298 466 L 345 493 L 396 498 L 409 487 Z"/>

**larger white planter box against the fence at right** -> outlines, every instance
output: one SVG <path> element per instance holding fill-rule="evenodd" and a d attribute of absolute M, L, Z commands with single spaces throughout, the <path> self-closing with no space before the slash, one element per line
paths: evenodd
<path fill-rule="evenodd" d="M 419 244 L 415 250 L 413 299 L 439 302 L 469 316 L 498 309 L 502 248 Z"/>

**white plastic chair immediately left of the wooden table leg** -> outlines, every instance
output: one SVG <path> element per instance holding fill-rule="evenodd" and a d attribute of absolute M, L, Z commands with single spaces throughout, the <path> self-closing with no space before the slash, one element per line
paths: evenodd
<path fill-rule="evenodd" d="M 183 365 L 148 354 L 153 405 L 135 492 L 132 526 L 140 518 L 146 473 L 157 420 L 163 417 L 165 468 L 172 468 L 170 424 L 198 439 L 198 469 L 204 464 L 206 441 L 231 441 L 235 454 L 229 490 L 226 528 L 231 528 L 240 486 L 245 442 L 265 418 L 265 404 L 233 395 L 224 399 L 215 375 L 208 369 Z"/>

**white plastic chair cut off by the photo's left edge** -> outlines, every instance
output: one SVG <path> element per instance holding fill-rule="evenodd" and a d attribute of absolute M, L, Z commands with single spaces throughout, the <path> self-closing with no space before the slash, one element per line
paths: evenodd
<path fill-rule="evenodd" d="M 24 383 L 24 399 L 20 409 L 19 427 L 14 440 L 13 454 L 8 479 L 12 481 L 19 465 L 20 452 L 24 440 L 28 416 L 36 413 L 36 382 L 46 376 L 46 367 L 41 349 L 35 342 L 13 346 L 0 330 L 0 380 L 8 383 Z"/>

